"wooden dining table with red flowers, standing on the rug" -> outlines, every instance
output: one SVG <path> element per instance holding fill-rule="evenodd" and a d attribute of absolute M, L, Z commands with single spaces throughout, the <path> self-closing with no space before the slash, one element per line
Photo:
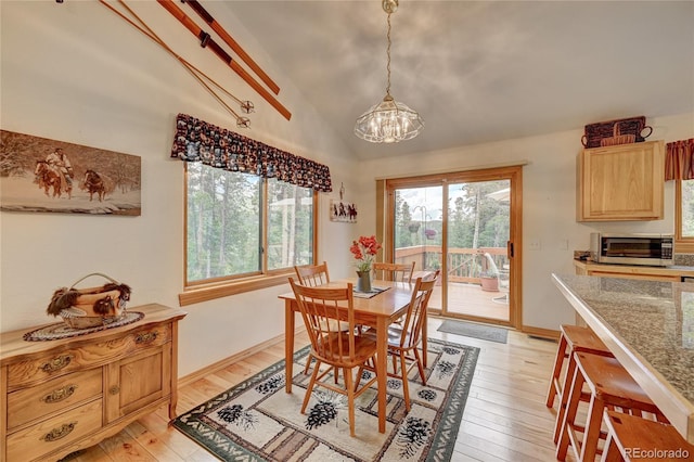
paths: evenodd
<path fill-rule="evenodd" d="M 321 286 L 346 287 L 352 283 L 357 287 L 356 279 L 331 281 Z M 359 325 L 368 325 L 374 329 L 376 334 L 376 378 L 378 395 L 378 432 L 386 431 L 386 383 L 388 359 L 388 326 L 400 319 L 408 310 L 414 283 L 374 280 L 372 292 L 359 293 L 355 291 L 354 312 L 355 322 Z M 292 377 L 294 365 L 294 333 L 295 318 L 299 307 L 293 292 L 279 296 L 284 300 L 284 330 L 285 330 L 285 376 L 286 393 L 292 393 Z M 347 306 L 345 306 L 347 309 Z M 426 358 L 426 339 L 423 338 L 423 356 Z"/>

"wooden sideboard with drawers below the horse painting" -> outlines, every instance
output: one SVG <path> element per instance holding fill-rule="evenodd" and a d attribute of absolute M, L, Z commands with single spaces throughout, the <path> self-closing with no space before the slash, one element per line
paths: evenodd
<path fill-rule="evenodd" d="M 33 329 L 0 334 L 0 460 L 57 460 L 115 435 L 168 405 L 176 416 L 178 321 L 185 312 L 129 308 L 131 324 L 27 342 Z"/>

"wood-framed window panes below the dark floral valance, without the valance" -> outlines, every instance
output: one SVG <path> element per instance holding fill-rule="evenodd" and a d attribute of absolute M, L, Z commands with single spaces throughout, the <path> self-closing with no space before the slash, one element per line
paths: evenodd
<path fill-rule="evenodd" d="M 187 288 L 286 282 L 295 265 L 313 262 L 316 201 L 310 188 L 187 163 Z"/>

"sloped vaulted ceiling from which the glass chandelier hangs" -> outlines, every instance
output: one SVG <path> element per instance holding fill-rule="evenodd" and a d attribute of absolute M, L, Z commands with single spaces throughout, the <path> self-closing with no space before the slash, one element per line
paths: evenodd
<path fill-rule="evenodd" d="M 694 112 L 694 1 L 400 0 L 390 93 L 425 128 L 395 144 L 352 133 L 385 95 L 381 0 L 224 5 L 360 158 Z"/>

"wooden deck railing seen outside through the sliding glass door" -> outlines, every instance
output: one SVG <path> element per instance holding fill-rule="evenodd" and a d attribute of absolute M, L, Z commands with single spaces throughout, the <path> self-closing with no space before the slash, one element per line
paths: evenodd
<path fill-rule="evenodd" d="M 491 255 L 498 268 L 509 265 L 506 247 L 449 248 L 446 256 L 448 282 L 479 284 L 480 273 L 487 269 L 485 254 Z M 414 245 L 395 249 L 396 264 L 415 262 L 414 269 L 434 270 L 444 268 L 440 245 Z"/>

